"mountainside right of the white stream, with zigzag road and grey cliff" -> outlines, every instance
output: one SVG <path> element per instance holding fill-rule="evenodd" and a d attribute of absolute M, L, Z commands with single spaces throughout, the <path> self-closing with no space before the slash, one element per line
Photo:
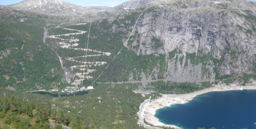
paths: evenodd
<path fill-rule="evenodd" d="M 149 86 L 155 80 L 244 85 L 256 79 L 256 53 L 251 49 L 255 44 L 255 10 L 246 6 L 250 2 L 242 1 L 241 5 L 250 11 L 240 11 L 238 1 L 201 2 L 207 7 L 197 5 L 197 1 L 152 1 L 111 18 L 60 26 L 86 33 L 67 32 L 48 38 L 47 43 L 57 49 L 73 80 L 86 78 L 84 86 L 94 80 Z M 194 11 L 199 17 L 190 17 Z"/>

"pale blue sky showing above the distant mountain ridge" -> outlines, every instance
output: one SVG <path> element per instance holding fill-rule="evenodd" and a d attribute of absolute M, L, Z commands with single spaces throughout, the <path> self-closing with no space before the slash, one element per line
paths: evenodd
<path fill-rule="evenodd" d="M 0 0 L 0 5 L 17 4 L 23 0 Z M 80 6 L 109 6 L 114 7 L 129 0 L 60 0 Z M 215 0 L 218 1 L 218 0 Z M 251 0 L 256 1 L 256 0 Z"/>

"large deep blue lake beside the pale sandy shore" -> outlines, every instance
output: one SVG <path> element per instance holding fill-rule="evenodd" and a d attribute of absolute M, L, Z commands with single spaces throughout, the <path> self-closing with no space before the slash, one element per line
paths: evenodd
<path fill-rule="evenodd" d="M 255 129 L 256 90 L 205 93 L 188 103 L 158 109 L 155 117 L 184 129 Z"/>

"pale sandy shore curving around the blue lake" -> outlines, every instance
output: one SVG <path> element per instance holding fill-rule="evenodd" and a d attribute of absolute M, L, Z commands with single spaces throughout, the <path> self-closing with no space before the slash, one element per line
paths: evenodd
<path fill-rule="evenodd" d="M 201 95 L 203 93 L 207 93 L 207 92 L 211 92 L 211 91 L 231 91 L 231 90 L 239 90 L 240 87 L 242 87 L 243 89 L 256 89 L 256 84 L 255 83 L 250 83 L 250 84 L 246 84 L 246 86 L 215 86 L 209 89 L 205 89 L 202 91 L 197 91 L 197 92 L 193 92 L 193 93 L 189 93 L 189 94 L 183 94 L 183 95 L 162 95 L 162 97 L 154 99 L 154 100 L 146 100 L 144 103 L 141 103 L 140 106 L 140 111 L 138 112 L 140 121 L 138 122 L 138 124 L 142 124 L 144 125 L 144 127 L 147 128 L 154 128 L 152 126 L 146 125 L 143 120 L 145 118 L 145 120 L 150 123 L 153 124 L 154 126 L 167 126 L 167 127 L 172 127 L 172 128 L 179 128 L 177 126 L 174 125 L 166 125 L 163 124 L 159 121 L 158 118 L 156 118 L 155 115 L 155 111 L 166 107 L 166 106 L 170 106 L 174 103 L 178 103 L 178 104 L 183 104 L 183 103 L 187 103 L 189 101 L 191 101 L 195 96 L 197 95 Z"/>

